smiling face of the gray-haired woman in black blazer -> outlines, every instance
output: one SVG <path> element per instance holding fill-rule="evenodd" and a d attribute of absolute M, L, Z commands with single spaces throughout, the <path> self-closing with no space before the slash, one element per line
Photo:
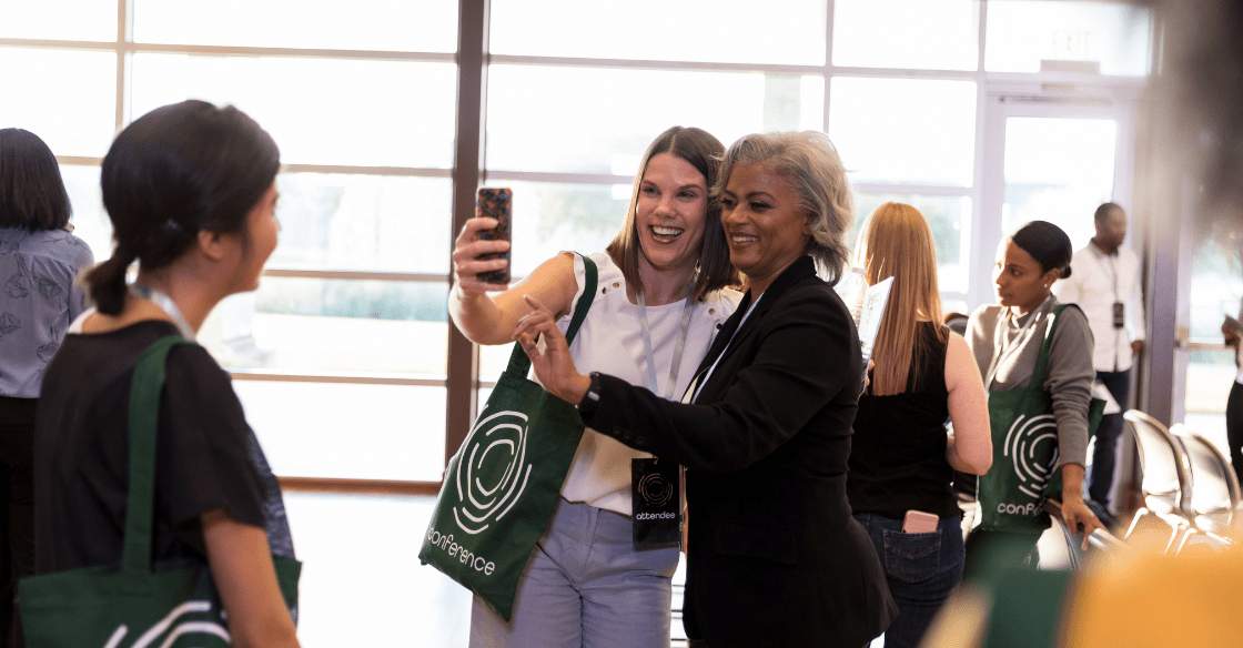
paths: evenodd
<path fill-rule="evenodd" d="M 721 192 L 730 261 L 756 295 L 807 254 L 810 216 L 791 182 L 764 164 L 735 164 Z"/>

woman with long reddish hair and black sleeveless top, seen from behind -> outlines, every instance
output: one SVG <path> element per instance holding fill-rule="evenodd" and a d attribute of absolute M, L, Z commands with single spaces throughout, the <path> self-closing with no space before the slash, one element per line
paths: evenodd
<path fill-rule="evenodd" d="M 936 248 L 924 214 L 901 203 L 878 206 L 855 255 L 868 285 L 894 284 L 854 419 L 846 493 L 897 603 L 885 646 L 906 648 L 920 644 L 962 581 L 953 471 L 982 475 L 992 464 L 988 398 L 967 341 L 941 323 Z"/>

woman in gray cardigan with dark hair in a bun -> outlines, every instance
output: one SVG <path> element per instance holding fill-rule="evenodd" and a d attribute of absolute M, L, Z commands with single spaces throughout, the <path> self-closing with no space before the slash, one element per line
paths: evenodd
<path fill-rule="evenodd" d="M 1014 231 L 998 249 L 993 282 L 997 303 L 981 306 L 967 323 L 967 345 L 976 356 L 984 388 L 989 392 L 1027 388 L 1035 369 L 1058 299 L 1053 282 L 1070 276 L 1073 249 L 1060 228 L 1033 220 Z M 1088 454 L 1088 405 L 1095 371 L 1091 364 L 1093 336 L 1088 318 L 1078 307 L 1064 308 L 1053 332 L 1044 391 L 1053 403 L 1058 428 L 1058 459 L 1062 471 L 1062 515 L 1066 526 L 1081 525 L 1088 534 L 1104 525 L 1084 504 L 1084 461 Z M 992 470 L 1013 470 L 994 463 Z M 988 502 L 981 502 L 987 506 Z M 967 540 L 967 571 L 978 560 L 982 545 L 998 540 L 999 532 L 977 531 Z M 1004 534 L 1011 536 L 1012 534 Z M 1027 536 L 1024 536 L 1027 537 Z M 1007 537 L 1007 551 L 1022 560 L 1039 536 L 1028 542 Z"/>

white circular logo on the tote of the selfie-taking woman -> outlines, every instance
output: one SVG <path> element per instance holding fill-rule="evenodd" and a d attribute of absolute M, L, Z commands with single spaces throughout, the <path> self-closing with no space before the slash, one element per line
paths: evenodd
<path fill-rule="evenodd" d="M 527 415 L 505 410 L 480 420 L 462 444 L 454 475 L 457 505 L 454 519 L 477 534 L 513 507 L 531 479 L 527 458 Z"/>

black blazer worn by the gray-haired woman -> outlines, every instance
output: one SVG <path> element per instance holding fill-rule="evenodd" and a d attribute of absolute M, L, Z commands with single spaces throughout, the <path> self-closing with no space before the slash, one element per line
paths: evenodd
<path fill-rule="evenodd" d="M 726 321 L 697 372 L 695 404 L 600 377 L 594 430 L 686 466 L 684 623 L 726 647 L 856 648 L 897 614 L 846 501 L 863 388 L 845 305 L 804 256 Z"/>

